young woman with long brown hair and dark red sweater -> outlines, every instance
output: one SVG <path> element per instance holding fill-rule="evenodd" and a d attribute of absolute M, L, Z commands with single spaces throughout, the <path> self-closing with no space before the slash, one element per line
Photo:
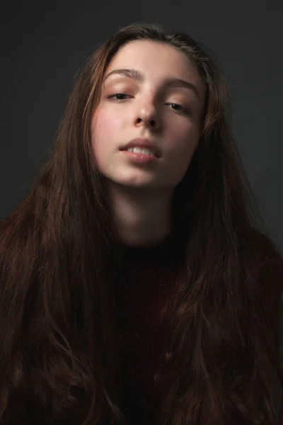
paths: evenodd
<path fill-rule="evenodd" d="M 204 48 L 163 26 L 89 58 L 1 221 L 1 424 L 281 423 L 283 262 L 228 101 Z"/>

